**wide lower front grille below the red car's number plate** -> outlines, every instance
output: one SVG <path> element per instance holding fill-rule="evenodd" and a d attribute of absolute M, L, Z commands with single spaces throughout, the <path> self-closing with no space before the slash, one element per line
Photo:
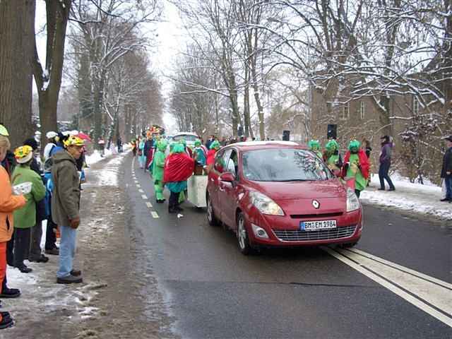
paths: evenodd
<path fill-rule="evenodd" d="M 275 236 L 282 242 L 310 242 L 313 240 L 329 240 L 351 237 L 356 226 L 337 227 L 331 230 L 273 230 Z"/>

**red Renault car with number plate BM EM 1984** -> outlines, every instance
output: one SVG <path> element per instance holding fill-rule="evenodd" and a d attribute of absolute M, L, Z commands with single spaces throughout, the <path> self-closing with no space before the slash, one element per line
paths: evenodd
<path fill-rule="evenodd" d="M 290 141 L 234 143 L 218 150 L 208 174 L 207 217 L 237 234 L 239 249 L 354 246 L 362 206 L 307 147 Z"/>

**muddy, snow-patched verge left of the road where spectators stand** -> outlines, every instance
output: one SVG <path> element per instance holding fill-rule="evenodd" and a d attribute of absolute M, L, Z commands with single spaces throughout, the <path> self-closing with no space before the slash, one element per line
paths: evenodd
<path fill-rule="evenodd" d="M 127 309 L 133 315 L 145 314 L 142 304 L 130 293 L 129 275 L 133 256 L 124 242 L 127 225 L 126 196 L 119 187 L 121 162 L 126 153 L 95 163 L 87 171 L 81 198 L 81 226 L 78 228 L 78 247 L 73 267 L 83 271 L 83 283 L 59 285 L 56 283 L 58 256 L 50 256 L 47 263 L 25 264 L 32 273 L 20 273 L 7 268 L 8 287 L 19 288 L 22 295 L 16 299 L 2 299 L 2 311 L 9 311 L 15 325 L 0 331 L 2 338 L 112 338 L 121 333 L 127 321 Z M 43 225 L 44 245 L 46 225 Z M 141 297 L 142 298 L 142 297 Z M 130 319 L 138 319 L 131 316 Z M 155 323 L 143 321 L 146 331 Z M 143 326 L 141 326 L 143 327 Z M 127 323 L 125 328 L 133 328 Z M 141 328 L 142 329 L 142 328 Z M 125 329 L 124 329 L 125 331 Z M 134 330 L 130 337 L 143 338 Z M 123 333 L 124 334 L 124 333 Z M 150 335 L 149 338 L 155 338 Z"/>

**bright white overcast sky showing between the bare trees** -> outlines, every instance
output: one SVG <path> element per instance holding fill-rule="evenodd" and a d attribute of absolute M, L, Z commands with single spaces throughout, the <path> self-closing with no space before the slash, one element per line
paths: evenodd
<path fill-rule="evenodd" d="M 171 83 L 165 78 L 166 75 L 172 72 L 174 58 L 180 49 L 184 48 L 185 39 L 184 29 L 182 28 L 182 20 L 179 17 L 179 11 L 173 4 L 164 0 L 165 11 L 162 16 L 162 21 L 157 23 L 157 47 L 150 51 L 150 69 L 157 73 L 157 76 L 162 83 L 162 93 L 167 97 L 171 89 Z M 45 1 L 36 1 L 36 20 L 35 28 L 37 34 L 37 52 L 41 63 L 45 64 L 45 46 L 46 35 L 42 32 L 45 25 Z M 149 29 L 150 30 L 150 29 Z M 186 35 L 185 35 L 186 37 Z M 33 90 L 36 92 L 35 83 L 33 82 Z M 172 116 L 165 112 L 164 122 L 170 133 L 174 133 L 175 126 Z M 150 121 L 152 123 L 152 121 Z"/>

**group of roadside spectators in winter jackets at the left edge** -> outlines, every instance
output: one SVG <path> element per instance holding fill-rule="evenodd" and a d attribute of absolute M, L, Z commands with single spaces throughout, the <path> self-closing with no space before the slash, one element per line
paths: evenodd
<path fill-rule="evenodd" d="M 8 287 L 7 266 L 30 273 L 32 268 L 25 261 L 46 263 L 45 254 L 59 256 L 57 283 L 81 283 L 73 258 L 80 224 L 84 141 L 76 133 L 49 131 L 41 158 L 35 138 L 27 138 L 11 152 L 8 136 L 8 129 L 0 124 L 0 297 L 20 297 L 20 290 Z M 11 314 L 0 312 L 0 329 L 12 324 Z"/>

